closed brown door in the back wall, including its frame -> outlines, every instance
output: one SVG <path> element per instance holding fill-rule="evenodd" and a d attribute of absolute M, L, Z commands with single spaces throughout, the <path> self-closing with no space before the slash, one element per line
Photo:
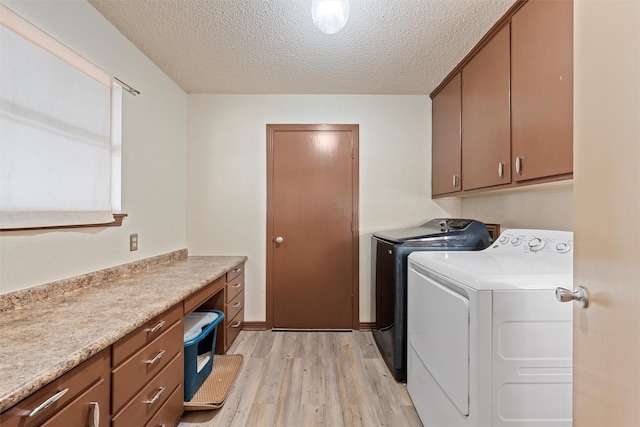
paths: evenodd
<path fill-rule="evenodd" d="M 358 327 L 357 142 L 357 125 L 267 126 L 270 327 Z"/>

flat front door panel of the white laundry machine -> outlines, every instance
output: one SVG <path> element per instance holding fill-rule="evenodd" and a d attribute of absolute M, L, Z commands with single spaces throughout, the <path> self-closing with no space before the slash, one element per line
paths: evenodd
<path fill-rule="evenodd" d="M 409 343 L 442 393 L 469 415 L 469 299 L 415 265 L 409 274 Z"/>

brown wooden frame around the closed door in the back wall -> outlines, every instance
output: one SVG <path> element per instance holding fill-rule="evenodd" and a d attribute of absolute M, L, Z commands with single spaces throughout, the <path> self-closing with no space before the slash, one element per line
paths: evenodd
<path fill-rule="evenodd" d="M 359 231 L 359 125 L 357 124 L 267 124 L 267 269 L 266 269 L 266 328 L 273 329 L 274 298 L 274 136 L 276 132 L 345 131 L 351 132 L 351 328 L 360 329 L 360 231 Z"/>

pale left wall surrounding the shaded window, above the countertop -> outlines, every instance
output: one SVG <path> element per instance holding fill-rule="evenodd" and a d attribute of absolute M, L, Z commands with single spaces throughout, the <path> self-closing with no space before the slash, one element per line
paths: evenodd
<path fill-rule="evenodd" d="M 0 1 L 142 92 L 123 95 L 123 226 L 0 233 L 0 294 L 186 247 L 186 94 L 89 3 Z"/>

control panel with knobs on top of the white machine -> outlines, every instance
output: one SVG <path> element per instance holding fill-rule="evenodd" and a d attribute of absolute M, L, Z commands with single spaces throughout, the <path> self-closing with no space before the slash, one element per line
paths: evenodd
<path fill-rule="evenodd" d="M 573 233 L 556 230 L 505 230 L 495 243 L 485 249 L 500 253 L 565 255 L 573 251 Z"/>

